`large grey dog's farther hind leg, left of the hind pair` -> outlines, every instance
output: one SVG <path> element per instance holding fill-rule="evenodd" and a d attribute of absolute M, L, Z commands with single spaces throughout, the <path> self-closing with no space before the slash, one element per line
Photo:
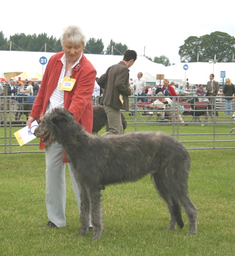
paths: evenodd
<path fill-rule="evenodd" d="M 164 199 L 169 209 L 171 219 L 170 224 L 168 226 L 169 230 L 175 229 L 176 223 L 179 225 L 180 228 L 183 228 L 184 222 L 182 220 L 180 205 L 177 200 L 175 200 L 167 186 L 165 185 L 167 182 L 162 174 L 154 173 L 152 174 L 153 182 L 156 186 L 156 189 L 159 195 Z"/>

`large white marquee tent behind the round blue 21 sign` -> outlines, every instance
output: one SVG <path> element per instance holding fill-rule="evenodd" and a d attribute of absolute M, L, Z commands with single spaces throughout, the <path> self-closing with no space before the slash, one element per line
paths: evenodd
<path fill-rule="evenodd" d="M 54 54 L 46 52 L 0 51 L 0 77 L 3 77 L 4 72 L 38 72 L 43 74 L 47 64 L 40 64 L 39 59 L 44 56 L 48 62 L 49 58 Z M 111 65 L 123 59 L 123 56 L 118 55 L 85 54 L 85 56 L 94 65 L 97 77 L 105 73 Z M 134 80 L 137 77 L 137 73 L 142 72 L 147 81 L 149 75 L 151 81 L 156 81 L 154 79 L 156 74 L 162 73 L 164 69 L 164 65 L 153 63 L 144 56 L 138 56 L 135 64 L 130 68 L 130 78 Z"/>

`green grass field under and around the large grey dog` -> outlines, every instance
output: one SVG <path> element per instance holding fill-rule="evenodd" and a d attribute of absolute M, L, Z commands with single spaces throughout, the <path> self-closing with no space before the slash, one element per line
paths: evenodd
<path fill-rule="evenodd" d="M 138 130 L 147 129 L 156 130 L 156 126 Z M 172 127 L 159 126 L 157 129 L 171 133 Z M 182 133 L 191 133 L 210 129 L 210 126 L 180 129 Z M 221 132 L 224 129 L 218 126 Z M 127 129 L 132 130 L 133 127 Z M 180 136 L 180 139 L 188 140 L 187 136 Z M 187 145 L 194 146 L 194 143 Z M 38 146 L 32 147 L 37 149 Z M 1 154 L 0 256 L 235 255 L 235 150 L 189 150 L 189 154 L 189 194 L 199 210 L 196 235 L 187 235 L 188 220 L 184 214 L 182 230 L 166 231 L 168 210 L 150 177 L 146 176 L 135 183 L 107 186 L 102 191 L 104 230 L 102 238 L 96 241 L 91 239 L 92 232 L 86 237 L 78 237 L 78 209 L 68 171 L 67 226 L 42 230 L 47 223 L 45 155 Z"/>

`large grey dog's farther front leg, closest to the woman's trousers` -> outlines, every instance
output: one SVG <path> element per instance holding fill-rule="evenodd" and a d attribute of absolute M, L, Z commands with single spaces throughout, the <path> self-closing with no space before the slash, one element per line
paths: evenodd
<path fill-rule="evenodd" d="M 89 212 L 90 212 L 90 202 L 89 197 L 86 191 L 86 188 L 83 185 L 79 185 L 80 188 L 80 199 L 81 199 L 81 215 L 80 215 L 80 236 L 85 236 L 89 231 Z"/>

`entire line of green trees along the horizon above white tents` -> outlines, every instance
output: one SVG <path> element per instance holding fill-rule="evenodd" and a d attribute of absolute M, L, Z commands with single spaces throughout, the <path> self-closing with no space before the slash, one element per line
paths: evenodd
<path fill-rule="evenodd" d="M 190 36 L 179 48 L 181 62 L 208 62 L 210 59 L 214 59 L 214 56 L 216 56 L 218 62 L 232 62 L 235 56 L 235 37 L 218 31 L 201 37 Z M 127 49 L 128 46 L 126 44 L 117 43 L 112 39 L 108 47 L 104 49 L 102 39 L 90 38 L 86 41 L 84 53 L 124 55 Z M 48 37 L 47 33 L 41 33 L 39 35 L 16 33 L 8 39 L 5 38 L 1 31 L 0 50 L 60 52 L 62 47 L 60 40 L 57 40 L 53 36 Z M 169 58 L 164 55 L 155 56 L 153 59 L 149 56 L 146 57 L 164 66 L 171 65 Z"/>

